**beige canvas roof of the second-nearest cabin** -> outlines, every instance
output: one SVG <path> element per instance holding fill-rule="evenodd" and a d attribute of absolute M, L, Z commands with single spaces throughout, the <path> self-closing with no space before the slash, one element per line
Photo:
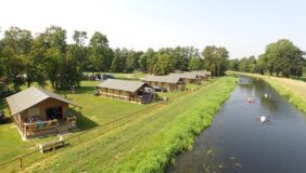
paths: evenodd
<path fill-rule="evenodd" d="M 129 81 L 129 80 L 118 80 L 118 79 L 107 79 L 100 83 L 99 88 L 106 88 L 106 89 L 113 89 L 113 90 L 122 90 L 122 91 L 128 91 L 128 92 L 136 92 L 138 89 L 140 89 L 144 82 L 140 81 Z"/>

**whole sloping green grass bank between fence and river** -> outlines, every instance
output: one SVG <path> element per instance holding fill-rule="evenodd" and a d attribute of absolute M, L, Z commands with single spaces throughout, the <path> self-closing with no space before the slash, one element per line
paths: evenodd
<path fill-rule="evenodd" d="M 103 136 L 63 149 L 28 168 L 37 172 L 163 172 L 194 136 L 211 125 L 235 85 L 233 77 L 217 79 L 199 91 L 161 105 Z"/>

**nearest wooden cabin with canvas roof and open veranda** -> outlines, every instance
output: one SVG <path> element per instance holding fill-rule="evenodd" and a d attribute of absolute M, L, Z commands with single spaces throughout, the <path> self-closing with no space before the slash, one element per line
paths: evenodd
<path fill-rule="evenodd" d="M 71 101 L 40 88 L 28 88 L 7 97 L 10 114 L 24 139 L 58 134 L 76 128 Z"/>

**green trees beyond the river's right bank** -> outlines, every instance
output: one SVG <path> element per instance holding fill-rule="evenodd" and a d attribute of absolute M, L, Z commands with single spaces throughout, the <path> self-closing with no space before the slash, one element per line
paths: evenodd
<path fill-rule="evenodd" d="M 241 59 L 229 59 L 229 69 L 244 72 L 264 75 L 302 77 L 306 68 L 305 52 L 294 45 L 290 40 L 281 39 L 266 46 L 265 53 Z"/>

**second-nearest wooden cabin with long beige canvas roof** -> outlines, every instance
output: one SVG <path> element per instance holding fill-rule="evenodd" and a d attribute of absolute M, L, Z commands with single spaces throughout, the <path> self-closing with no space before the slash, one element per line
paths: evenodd
<path fill-rule="evenodd" d="M 106 79 L 98 85 L 100 94 L 131 103 L 145 104 L 156 98 L 149 83 L 130 80 Z"/>

